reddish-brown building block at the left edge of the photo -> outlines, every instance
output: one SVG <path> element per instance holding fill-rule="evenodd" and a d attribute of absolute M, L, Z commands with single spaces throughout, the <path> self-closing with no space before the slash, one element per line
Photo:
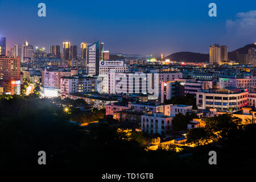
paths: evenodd
<path fill-rule="evenodd" d="M 0 56 L 0 80 L 20 80 L 19 56 Z"/>

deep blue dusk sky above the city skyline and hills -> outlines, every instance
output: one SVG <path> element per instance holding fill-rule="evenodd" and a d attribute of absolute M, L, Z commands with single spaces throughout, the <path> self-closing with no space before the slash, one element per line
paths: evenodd
<path fill-rule="evenodd" d="M 38 16 L 40 2 L 46 3 L 46 17 Z M 211 2 L 217 17 L 208 16 Z M 255 35 L 256 1 L 250 0 L 0 0 L 0 36 L 6 37 L 7 49 L 26 39 L 47 51 L 65 41 L 80 47 L 100 40 L 110 53 L 208 53 L 214 43 L 233 51 L 256 42 Z"/>

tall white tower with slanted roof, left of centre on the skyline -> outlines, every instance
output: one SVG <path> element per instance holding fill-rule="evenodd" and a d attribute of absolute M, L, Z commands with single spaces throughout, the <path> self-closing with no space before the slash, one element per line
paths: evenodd
<path fill-rule="evenodd" d="M 103 61 L 103 51 L 104 43 L 99 41 L 87 46 L 86 71 L 88 75 L 92 76 L 99 74 L 100 62 Z"/>

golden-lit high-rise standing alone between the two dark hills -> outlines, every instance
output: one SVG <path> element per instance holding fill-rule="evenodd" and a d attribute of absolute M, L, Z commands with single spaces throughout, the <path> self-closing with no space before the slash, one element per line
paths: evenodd
<path fill-rule="evenodd" d="M 212 64 L 220 64 L 221 61 L 228 61 L 228 47 L 214 44 L 210 46 L 209 60 Z"/>

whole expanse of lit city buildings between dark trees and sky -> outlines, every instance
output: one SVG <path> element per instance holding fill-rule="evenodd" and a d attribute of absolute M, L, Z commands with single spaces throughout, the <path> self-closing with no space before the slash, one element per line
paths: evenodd
<path fill-rule="evenodd" d="M 178 113 L 195 113 L 188 129 L 204 126 L 203 119 L 231 113 L 255 117 L 255 48 L 249 61 L 228 63 L 228 48 L 210 46 L 210 64 L 185 64 L 158 59 L 110 59 L 104 43 L 77 46 L 63 42 L 49 52 L 17 44 L 6 53 L 0 38 L 0 93 L 20 94 L 24 78 L 40 84 L 42 97 L 81 98 L 120 122 L 130 122 L 148 134 L 166 135 Z M 239 58 L 239 56 L 238 56 Z M 240 60 L 238 60 L 240 61 Z M 230 62 L 231 63 L 231 62 Z M 195 105 L 167 104 L 172 98 L 194 98 Z"/>

